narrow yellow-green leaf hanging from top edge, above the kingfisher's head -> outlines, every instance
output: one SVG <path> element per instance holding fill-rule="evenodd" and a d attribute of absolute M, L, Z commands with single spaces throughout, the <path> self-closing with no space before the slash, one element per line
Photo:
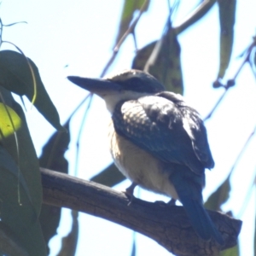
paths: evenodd
<path fill-rule="evenodd" d="M 131 20 L 133 19 L 133 15 L 137 10 L 142 9 L 143 4 L 144 11 L 148 9 L 148 5 L 150 3 L 150 0 L 125 0 L 121 20 L 119 23 L 119 32 L 115 41 L 115 44 L 117 44 L 120 40 L 120 38 L 125 34 L 126 30 L 128 29 Z"/>

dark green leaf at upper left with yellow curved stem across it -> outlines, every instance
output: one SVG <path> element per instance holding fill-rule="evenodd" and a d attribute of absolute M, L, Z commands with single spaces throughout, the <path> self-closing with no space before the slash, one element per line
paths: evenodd
<path fill-rule="evenodd" d="M 32 60 L 12 50 L 0 51 L 0 84 L 20 96 L 25 95 L 51 125 L 63 131 L 59 114 Z"/>

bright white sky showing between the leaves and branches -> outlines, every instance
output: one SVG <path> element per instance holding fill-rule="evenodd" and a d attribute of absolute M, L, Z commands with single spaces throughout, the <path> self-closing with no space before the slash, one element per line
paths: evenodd
<path fill-rule="evenodd" d="M 189 13 L 197 1 L 183 1 L 176 21 Z M 154 1 L 137 26 L 137 44 L 145 44 L 160 38 L 167 17 L 166 1 Z M 190 4 L 190 5 L 189 5 Z M 123 1 L 79 1 L 79 0 L 3 0 L 0 15 L 3 24 L 26 20 L 6 27 L 3 39 L 20 47 L 34 61 L 40 71 L 49 96 L 55 103 L 64 123 L 73 109 L 84 99 L 86 91 L 79 89 L 66 79 L 67 75 L 98 77 L 112 54 L 113 39 L 119 24 Z M 255 35 L 254 0 L 238 1 L 234 54 L 227 79 L 232 78 L 241 59 L 237 56 L 247 48 Z M 218 9 L 213 8 L 207 18 L 183 32 L 178 38 L 182 46 L 183 76 L 187 101 L 204 117 L 209 113 L 222 90 L 213 90 L 212 81 L 218 73 Z M 3 49 L 14 49 L 4 44 Z M 131 67 L 134 56 L 132 38 L 128 38 L 120 49 L 111 72 Z M 68 67 L 65 67 L 68 65 Z M 256 86 L 248 65 L 244 67 L 231 89 L 212 118 L 207 120 L 207 131 L 216 167 L 207 172 L 207 188 L 204 196 L 217 188 L 227 177 L 242 145 L 256 125 Z M 85 107 L 84 107 L 85 108 Z M 72 121 L 72 143 L 67 152 L 70 173 L 74 173 L 75 143 L 79 122 L 84 109 Z M 54 129 L 33 108 L 26 113 L 38 155 Z M 80 142 L 79 177 L 88 179 L 100 172 L 111 162 L 108 154 L 107 131 L 108 113 L 104 103 L 95 97 L 91 112 L 84 127 Z M 247 208 L 238 216 L 247 198 L 247 191 L 255 175 L 256 140 L 249 144 L 246 154 L 232 175 L 230 201 L 224 211 L 233 211 L 243 220 L 241 230 L 242 255 L 253 255 L 253 223 L 255 219 L 255 188 Z M 101 160 L 99 160 L 99 158 Z M 124 190 L 129 182 L 114 189 Z M 140 196 L 147 201 L 164 200 L 160 195 L 140 190 Z M 61 236 L 70 229 L 69 211 L 63 211 L 58 236 L 51 242 L 51 254 L 60 248 Z M 79 215 L 79 247 L 77 255 L 131 255 L 132 231 L 117 224 L 86 214 Z M 145 236 L 137 235 L 137 255 L 170 255 L 166 249 Z"/>

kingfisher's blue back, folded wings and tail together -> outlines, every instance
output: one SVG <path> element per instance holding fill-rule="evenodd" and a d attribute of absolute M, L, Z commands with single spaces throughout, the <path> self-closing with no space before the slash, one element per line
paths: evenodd
<path fill-rule="evenodd" d="M 205 127 L 193 108 L 176 100 L 145 96 L 119 102 L 113 112 L 113 124 L 119 135 L 166 163 L 164 168 L 170 171 L 170 182 L 195 232 L 206 241 L 214 237 L 223 244 L 202 204 L 204 170 L 213 163 Z"/>

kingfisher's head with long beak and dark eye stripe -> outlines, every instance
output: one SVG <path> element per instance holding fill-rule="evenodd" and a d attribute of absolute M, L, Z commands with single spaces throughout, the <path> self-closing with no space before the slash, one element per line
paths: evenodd
<path fill-rule="evenodd" d="M 105 79 L 67 77 L 74 84 L 95 93 L 105 100 L 110 113 L 120 101 L 136 100 L 142 96 L 154 95 L 165 87 L 149 73 L 131 69 Z"/>

